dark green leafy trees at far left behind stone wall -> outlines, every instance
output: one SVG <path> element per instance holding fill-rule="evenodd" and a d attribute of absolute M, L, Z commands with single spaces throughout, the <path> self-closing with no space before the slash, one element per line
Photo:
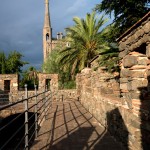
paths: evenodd
<path fill-rule="evenodd" d="M 0 74 L 20 73 L 21 67 L 27 62 L 21 60 L 23 55 L 17 51 L 9 53 L 8 57 L 2 52 L 0 53 Z"/>

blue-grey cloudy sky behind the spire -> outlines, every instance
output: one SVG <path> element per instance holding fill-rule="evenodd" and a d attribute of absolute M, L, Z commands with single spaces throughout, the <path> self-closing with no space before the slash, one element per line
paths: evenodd
<path fill-rule="evenodd" d="M 0 51 L 17 50 L 28 66 L 40 68 L 43 62 L 42 29 L 45 0 L 1 0 Z M 73 25 L 72 18 L 84 18 L 101 0 L 50 0 L 53 37 Z M 26 66 L 26 68 L 28 67 Z"/>

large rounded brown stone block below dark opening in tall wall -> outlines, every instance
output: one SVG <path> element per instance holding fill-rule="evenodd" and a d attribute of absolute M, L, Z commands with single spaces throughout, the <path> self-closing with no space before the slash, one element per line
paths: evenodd
<path fill-rule="evenodd" d="M 124 59 L 123 59 L 123 66 L 125 68 L 129 68 L 129 67 L 132 67 L 134 65 L 138 64 L 138 61 L 137 61 L 137 57 L 135 56 L 130 56 L 130 55 L 127 55 Z"/>

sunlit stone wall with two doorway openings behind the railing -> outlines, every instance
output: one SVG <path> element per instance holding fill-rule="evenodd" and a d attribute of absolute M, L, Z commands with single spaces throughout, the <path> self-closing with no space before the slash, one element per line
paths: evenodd
<path fill-rule="evenodd" d="M 44 92 L 47 88 L 46 84 L 49 82 L 49 89 L 52 93 L 58 91 L 58 75 L 57 74 L 46 74 L 40 73 L 39 77 L 39 87 L 37 93 Z M 4 82 L 5 80 L 10 80 L 10 91 L 9 91 L 9 102 L 16 102 L 25 98 L 25 92 L 18 90 L 18 75 L 17 74 L 3 74 L 0 75 L 0 91 L 4 93 Z M 48 80 L 48 82 L 46 82 Z M 2 94 L 3 94 L 2 93 Z M 28 91 L 28 96 L 33 96 L 35 91 Z"/>

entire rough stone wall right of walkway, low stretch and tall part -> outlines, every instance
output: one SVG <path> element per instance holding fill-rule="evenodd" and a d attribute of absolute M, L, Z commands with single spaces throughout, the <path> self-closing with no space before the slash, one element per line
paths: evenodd
<path fill-rule="evenodd" d="M 77 93 L 83 106 L 127 149 L 148 150 L 150 12 L 118 42 L 121 59 L 119 81 L 101 69 L 84 69 L 77 75 Z"/>

